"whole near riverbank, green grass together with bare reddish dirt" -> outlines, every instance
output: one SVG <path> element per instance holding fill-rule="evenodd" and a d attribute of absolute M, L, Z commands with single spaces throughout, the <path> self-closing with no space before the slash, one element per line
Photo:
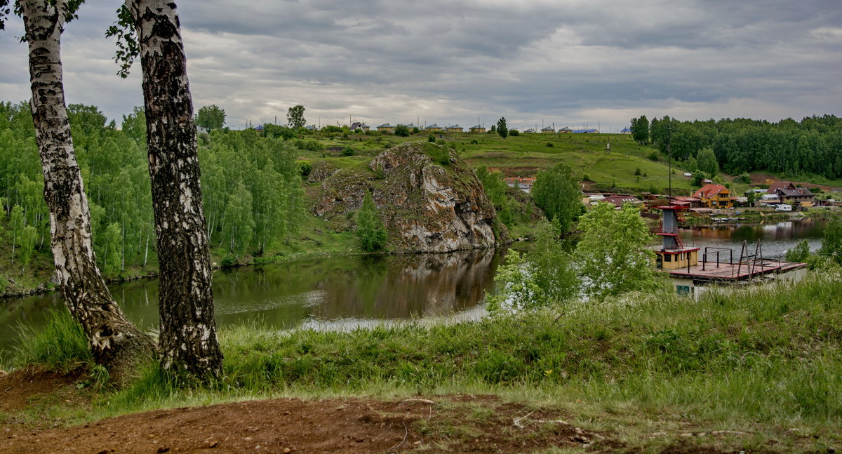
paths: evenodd
<path fill-rule="evenodd" d="M 669 293 L 632 294 L 475 322 L 348 332 L 278 332 L 259 323 L 226 328 L 220 387 L 173 387 L 151 370 L 114 391 L 77 376 L 59 394 L 16 399 L 23 400 L 19 408 L 2 409 L 3 425 L 23 438 L 2 439 L 0 446 L 32 446 L 41 436 L 56 443 L 84 437 L 95 440 L 97 450 L 111 449 L 126 436 L 141 440 L 135 429 L 109 439 L 126 426 L 121 421 L 152 427 L 166 420 L 169 435 L 154 426 L 150 440 L 176 443 L 178 435 L 182 445 L 158 445 L 198 449 L 210 436 L 200 423 L 218 419 L 209 415 L 232 414 L 237 421 L 253 409 L 251 433 L 212 424 L 220 451 L 236 451 L 246 441 L 253 441 L 249 450 L 259 441 L 283 451 L 289 441 L 273 439 L 275 432 L 257 421 L 288 411 L 301 421 L 312 410 L 312 424 L 326 428 L 328 440 L 343 432 L 330 428 L 345 427 L 349 418 L 375 420 L 400 437 L 405 425 L 412 445 L 398 451 L 465 451 L 475 444 L 495 451 L 495 441 L 505 448 L 504 440 L 529 435 L 536 440 L 530 451 L 563 452 L 574 445 L 557 436 L 571 442 L 578 435 L 587 440 L 578 441 L 578 450 L 586 445 L 602 452 L 829 452 L 842 446 L 839 278 L 838 271 L 822 272 L 692 304 Z M 296 400 L 229 403 L 265 398 Z M 206 407 L 215 403 L 221 406 Z M 153 413 L 137 413 L 148 410 Z M 109 419 L 122 414 L 132 416 Z M 400 442 L 395 436 L 389 432 L 388 446 L 372 443 L 368 451 L 363 441 L 341 442 L 357 452 L 382 452 Z M 308 451 L 302 446 L 296 447 Z"/>

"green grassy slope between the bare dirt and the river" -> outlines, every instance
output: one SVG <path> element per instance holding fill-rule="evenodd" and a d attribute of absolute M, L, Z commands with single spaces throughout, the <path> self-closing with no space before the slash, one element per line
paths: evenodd
<path fill-rule="evenodd" d="M 842 443 L 839 278 L 838 271 L 816 273 L 699 302 L 627 294 L 464 323 L 225 329 L 219 387 L 179 389 L 150 371 L 129 389 L 103 393 L 87 411 L 50 411 L 69 423 L 277 396 L 493 394 L 562 411 L 571 424 L 631 451 L 690 443 L 825 452 Z M 37 355 L 20 360 L 27 359 Z"/>

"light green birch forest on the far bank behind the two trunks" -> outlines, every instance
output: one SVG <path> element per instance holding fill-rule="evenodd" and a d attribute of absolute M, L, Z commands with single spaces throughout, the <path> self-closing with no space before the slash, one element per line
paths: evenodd
<path fill-rule="evenodd" d="M 143 110 L 124 115 L 121 127 L 93 106 L 70 104 L 68 114 L 100 268 L 115 277 L 127 268 L 155 266 Z M 285 242 L 306 216 L 290 142 L 255 131 L 213 131 L 200 147 L 200 166 L 211 247 L 223 257 L 260 254 Z M 0 223 L 0 235 L 18 249 L 13 260 L 24 259 L 22 236 L 32 248 L 50 250 L 43 190 L 29 104 L 0 103 L 0 214 L 8 221 Z M 24 235 L 27 227 L 30 234 Z"/>

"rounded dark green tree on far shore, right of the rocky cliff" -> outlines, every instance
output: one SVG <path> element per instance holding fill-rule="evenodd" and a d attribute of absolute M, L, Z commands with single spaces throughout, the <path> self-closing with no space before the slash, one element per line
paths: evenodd
<path fill-rule="evenodd" d="M 573 170 L 563 163 L 539 172 L 531 195 L 546 218 L 557 222 L 562 232 L 568 232 L 582 213 L 582 191 L 579 190 L 578 179 Z"/>

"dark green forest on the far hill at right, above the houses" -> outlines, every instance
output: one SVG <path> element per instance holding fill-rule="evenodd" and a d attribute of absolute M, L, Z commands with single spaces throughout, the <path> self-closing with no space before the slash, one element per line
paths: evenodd
<path fill-rule="evenodd" d="M 730 174 L 769 171 L 794 176 L 842 177 L 842 119 L 812 116 L 772 123 L 766 120 L 722 119 L 679 121 L 664 116 L 632 118 L 632 135 L 652 143 L 679 161 L 695 160 L 711 149 L 719 167 Z M 692 166 L 690 166 L 692 167 Z"/>

